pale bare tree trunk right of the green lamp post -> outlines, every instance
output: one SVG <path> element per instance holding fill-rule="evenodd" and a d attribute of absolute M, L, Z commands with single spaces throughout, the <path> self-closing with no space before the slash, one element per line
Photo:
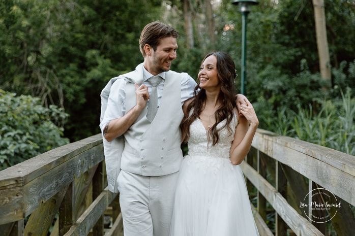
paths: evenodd
<path fill-rule="evenodd" d="M 324 0 L 312 0 L 314 8 L 314 21 L 319 56 L 319 68 L 324 80 L 323 89 L 331 87 L 331 65 L 326 29 L 326 13 L 324 11 Z"/>

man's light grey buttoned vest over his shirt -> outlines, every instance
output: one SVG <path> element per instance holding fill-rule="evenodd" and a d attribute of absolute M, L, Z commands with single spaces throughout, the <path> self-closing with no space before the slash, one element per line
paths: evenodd
<path fill-rule="evenodd" d="M 157 115 L 153 122 L 146 118 L 147 106 L 124 133 L 125 148 L 121 169 L 143 176 L 162 176 L 179 171 L 183 159 L 180 122 L 181 74 L 168 71 Z M 136 105 L 134 84 L 126 85 L 126 111 Z"/>

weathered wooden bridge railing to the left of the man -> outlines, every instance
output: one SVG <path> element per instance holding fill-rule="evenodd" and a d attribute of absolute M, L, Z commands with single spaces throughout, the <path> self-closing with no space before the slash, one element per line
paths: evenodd
<path fill-rule="evenodd" d="M 103 160 L 98 134 L 0 172 L 0 235 L 117 235 L 118 194 L 105 188 Z"/>

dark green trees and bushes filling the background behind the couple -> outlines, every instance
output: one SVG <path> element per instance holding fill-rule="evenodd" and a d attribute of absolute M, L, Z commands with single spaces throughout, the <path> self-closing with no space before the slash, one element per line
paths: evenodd
<path fill-rule="evenodd" d="M 143 61 L 139 36 L 151 21 L 169 23 L 180 33 L 172 70 L 196 78 L 203 56 L 219 50 L 233 57 L 240 72 L 238 7 L 226 0 L 214 4 L 213 43 L 205 30 L 202 1 L 191 2 L 193 47 L 186 43 L 182 1 L 0 0 L 1 106 L 10 101 L 7 109 L 0 110 L 2 168 L 68 139 L 74 142 L 99 133 L 100 92 L 110 78 Z M 354 155 L 355 1 L 325 3 L 332 87 L 322 89 L 312 1 L 261 0 L 248 16 L 246 95 L 257 111 L 260 128 Z M 236 86 L 238 90 L 238 80 Z M 28 105 L 31 112 L 20 113 L 30 117 L 45 107 L 46 115 L 36 115 L 40 117 L 37 124 L 50 120 L 56 127 L 46 128 L 43 134 L 43 127 L 8 120 L 19 118 L 13 113 L 18 112 L 21 99 L 31 100 L 21 94 L 38 99 Z M 56 138 L 50 136 L 54 131 Z M 9 140 L 14 137 L 9 132 L 17 138 Z M 33 145 L 36 152 L 24 152 L 27 142 L 10 153 L 7 145 L 24 133 L 37 146 L 44 140 L 51 143 L 46 148 Z"/>

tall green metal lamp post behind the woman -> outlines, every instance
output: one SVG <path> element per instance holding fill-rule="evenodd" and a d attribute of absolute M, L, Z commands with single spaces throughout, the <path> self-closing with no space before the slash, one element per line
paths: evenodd
<path fill-rule="evenodd" d="M 241 70 L 241 93 L 245 94 L 246 75 L 247 75 L 247 16 L 250 12 L 250 6 L 257 5 L 256 0 L 233 0 L 232 4 L 239 5 L 242 12 L 242 70 Z"/>

